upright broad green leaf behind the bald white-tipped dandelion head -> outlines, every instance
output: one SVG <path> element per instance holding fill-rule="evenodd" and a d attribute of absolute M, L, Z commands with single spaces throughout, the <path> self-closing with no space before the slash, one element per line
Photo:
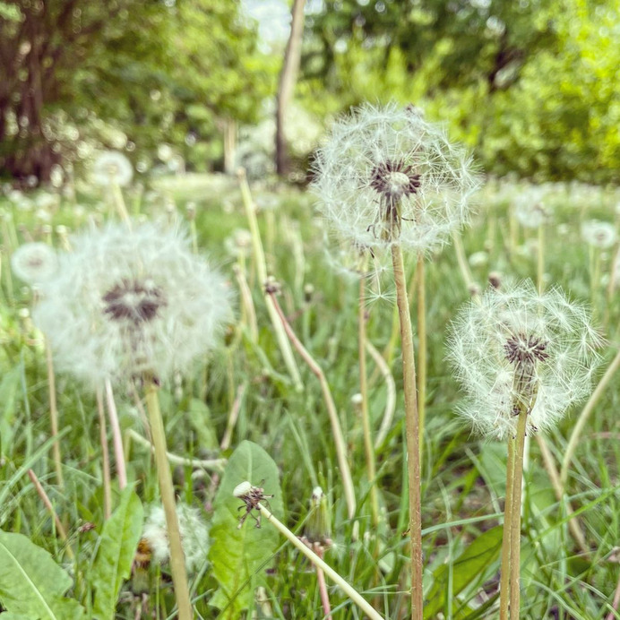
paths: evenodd
<path fill-rule="evenodd" d="M 266 564 L 279 544 L 278 532 L 269 523 L 255 527 L 252 516 L 241 528 L 237 527 L 239 517 L 245 514 L 245 505 L 233 496 L 233 490 L 245 480 L 263 487 L 265 494 L 275 495 L 269 500 L 271 510 L 277 517 L 282 515 L 278 467 L 260 446 L 248 441 L 240 443 L 228 461 L 215 496 L 211 525 L 209 559 L 220 588 L 209 602 L 222 610 L 222 618 L 238 618 L 250 606 L 254 588 L 263 584 Z M 244 510 L 238 511 L 241 505 Z"/>

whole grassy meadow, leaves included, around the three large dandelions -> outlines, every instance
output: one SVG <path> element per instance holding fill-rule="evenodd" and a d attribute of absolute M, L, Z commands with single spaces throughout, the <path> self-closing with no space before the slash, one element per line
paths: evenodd
<path fill-rule="evenodd" d="M 40 241 L 65 252 L 74 232 L 116 219 L 116 198 L 108 190 L 79 182 L 73 193 L 7 188 L 0 198 L 0 530 L 3 536 L 20 533 L 50 555 L 38 555 L 42 552 L 22 539 L 0 539 L 5 563 L 3 569 L 0 561 L 0 577 L 6 580 L 0 580 L 0 602 L 8 610 L 6 620 L 77 618 L 84 609 L 87 617 L 176 617 L 168 563 L 158 564 L 152 547 L 137 545 L 147 515 L 159 506 L 157 471 L 145 439 L 144 398 L 130 377 L 116 387 L 129 484 L 125 491 L 119 488 L 108 429 L 107 506 L 105 442 L 100 441 L 95 394 L 73 376 L 56 373 L 59 433 L 56 441 L 51 438 L 47 347 L 31 318 L 36 287 L 26 286 L 10 267 L 20 245 Z M 200 553 L 193 554 L 189 570 L 195 617 L 322 618 L 325 592 L 334 619 L 365 617 L 329 578 L 323 588 L 313 564 L 264 516 L 255 527 L 254 511 L 237 528 L 244 515 L 237 507 L 245 500 L 235 497 L 233 489 L 247 479 L 263 487 L 265 495 L 275 495 L 270 510 L 295 534 L 306 532 L 307 538 L 319 527 L 317 515 L 331 521 L 329 527 L 319 524 L 314 549 L 381 617 L 408 618 L 406 442 L 392 267 L 377 255 L 380 267 L 362 279 L 361 290 L 373 480 L 357 396 L 360 277 L 342 267 L 342 256 L 334 256 L 325 224 L 316 215 L 314 194 L 277 181 L 245 185 L 245 177 L 178 174 L 133 182 L 123 196 L 134 222 L 184 228 L 194 254 L 217 265 L 234 293 L 233 318 L 219 345 L 185 375 L 172 375 L 159 387 L 168 452 L 174 455 L 175 492 L 202 521 L 192 541 Z M 593 387 L 610 365 L 617 366 L 618 191 L 487 177 L 473 202 L 469 226 L 456 243 L 429 254 L 425 265 L 426 425 L 420 469 L 425 618 L 498 617 L 506 447 L 473 433 L 455 413 L 463 394 L 446 361 L 446 337 L 461 306 L 487 288 L 489 276 L 499 286 L 531 279 L 546 289 L 561 287 L 571 299 L 591 304 L 594 322 L 607 339 Z M 520 210 L 533 203 L 544 205 L 544 217 L 529 228 L 536 213 Z M 277 282 L 272 297 L 265 297 L 258 236 L 250 232 L 248 213 L 258 223 L 266 271 Z M 584 233 L 592 220 L 615 229 L 607 247 Z M 417 258 L 405 258 L 417 333 Z M 295 346 L 290 349 L 298 379 L 282 355 L 267 298 L 275 298 L 306 350 L 305 358 Z M 325 382 L 344 435 L 356 500 L 352 517 Z M 611 375 L 598 392 L 574 438 L 570 461 L 567 445 L 585 400 L 554 430 L 531 438 L 522 500 L 522 618 L 620 617 L 617 376 Z M 62 481 L 54 445 L 61 455 Z M 248 462 L 253 463 L 252 478 Z M 563 469 L 565 481 L 558 478 Z M 323 502 L 319 495 L 313 503 L 316 487 L 323 489 Z M 135 555 L 136 547 L 142 556 Z M 13 549 L 23 573 L 14 567 L 7 571 L 7 549 Z M 35 570 L 37 564 L 47 567 L 50 579 L 56 569 L 65 576 L 56 575 L 56 585 L 47 582 Z M 76 603 L 60 605 L 60 611 L 47 616 L 29 616 L 14 604 L 11 591 L 19 590 L 15 599 L 30 600 L 32 589 L 43 598 Z"/>

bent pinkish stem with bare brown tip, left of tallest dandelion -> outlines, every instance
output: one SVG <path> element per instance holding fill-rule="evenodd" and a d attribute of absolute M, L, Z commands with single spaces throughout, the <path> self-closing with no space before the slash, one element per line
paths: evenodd
<path fill-rule="evenodd" d="M 330 390 L 330 385 L 327 383 L 327 379 L 325 378 L 325 374 L 323 373 L 323 368 L 319 366 L 314 358 L 308 353 L 306 347 L 301 343 L 301 341 L 297 338 L 295 332 L 293 332 L 293 328 L 287 321 L 286 316 L 282 312 L 282 308 L 278 303 L 278 300 L 275 297 L 271 288 L 268 289 L 267 298 L 271 299 L 271 303 L 273 307 L 280 316 L 280 321 L 284 326 L 284 331 L 286 332 L 288 338 L 290 339 L 293 347 L 297 350 L 297 353 L 301 357 L 304 358 L 304 361 L 309 366 L 313 375 L 319 380 L 321 383 L 321 390 L 323 392 L 323 400 L 325 401 L 325 408 L 327 409 L 327 414 L 330 418 L 330 422 L 332 423 L 332 435 L 333 442 L 336 447 L 336 456 L 338 458 L 338 466 L 340 468 L 340 476 L 342 477 L 342 487 L 344 488 L 344 495 L 347 500 L 347 507 L 349 513 L 349 519 L 353 519 L 355 517 L 355 512 L 357 508 L 356 498 L 355 498 L 355 488 L 353 487 L 353 478 L 351 478 L 351 470 L 349 469 L 349 461 L 347 461 L 347 444 L 344 441 L 344 436 L 342 435 L 342 429 L 340 428 L 340 419 L 338 418 L 338 411 L 336 410 L 336 405 L 333 401 L 332 391 Z"/>

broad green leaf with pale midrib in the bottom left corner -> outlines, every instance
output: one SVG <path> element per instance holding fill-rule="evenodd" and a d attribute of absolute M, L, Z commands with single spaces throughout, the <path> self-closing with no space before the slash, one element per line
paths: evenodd
<path fill-rule="evenodd" d="M 77 620 L 84 609 L 64 598 L 71 577 L 45 549 L 22 534 L 0 530 L 0 603 L 13 619 Z"/>

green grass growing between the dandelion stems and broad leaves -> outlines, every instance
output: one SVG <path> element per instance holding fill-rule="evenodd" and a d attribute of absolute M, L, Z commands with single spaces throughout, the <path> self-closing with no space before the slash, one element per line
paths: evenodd
<path fill-rule="evenodd" d="M 78 210 L 69 199 L 43 211 L 0 199 L 0 529 L 22 532 L 46 548 L 72 574 L 88 572 L 103 523 L 96 403 L 71 377 L 57 377 L 60 427 L 65 433 L 61 438 L 65 488 L 61 489 L 56 483 L 51 452 L 47 448 L 41 450 L 49 437 L 46 361 L 40 334 L 22 312 L 31 306 L 32 292 L 11 275 L 7 259 L 16 244 L 30 239 L 48 239 L 60 245 L 61 237 L 56 230 L 59 224 L 75 230 L 92 215 L 107 218 L 105 202 L 85 189 L 86 193 L 77 196 L 82 205 Z M 245 262 L 258 318 L 258 345 L 251 342 L 246 330 L 237 326 L 227 340 L 228 346 L 218 350 L 208 364 L 197 366 L 193 376 L 175 385 L 163 386 L 161 400 L 168 449 L 184 456 L 219 456 L 228 413 L 241 388 L 243 396 L 231 448 L 249 439 L 263 446 L 277 463 L 285 507 L 284 514 L 279 515 L 281 519 L 297 530 L 306 518 L 313 488 L 322 486 L 332 505 L 334 545 L 326 552 L 327 562 L 385 617 L 406 618 L 408 504 L 403 495 L 406 485 L 398 345 L 392 352 L 389 350 L 395 320 L 392 291 L 384 285 L 381 295 L 371 294 L 367 304 L 368 339 L 388 357 L 397 395 L 394 421 L 375 450 L 381 520 L 374 527 L 370 519 L 362 426 L 351 400 L 359 391 L 357 282 L 340 277 L 325 259 L 323 231 L 314 219 L 311 196 L 268 186 L 255 187 L 253 191 L 256 202 L 263 205 L 259 221 L 269 269 L 281 284 L 280 304 L 306 349 L 323 367 L 340 413 L 356 487 L 357 525 L 347 516 L 319 383 L 297 356 L 303 391 L 297 391 L 288 378 L 250 255 Z M 537 231 L 512 228 L 512 238 L 517 243 L 511 243 L 509 204 L 522 191 L 520 185 L 500 188 L 495 182 L 487 184 L 480 196 L 478 214 L 463 233 L 468 256 L 485 253 L 478 254 L 478 260 L 474 259 L 471 265 L 473 278 L 480 287 L 486 286 L 489 271 L 501 272 L 504 279 L 536 279 Z M 553 214 L 545 227 L 546 285 L 559 285 L 574 298 L 593 301 L 598 323 L 606 323 L 609 345 L 604 356 L 608 365 L 619 344 L 618 292 L 607 299 L 605 278 L 615 248 L 602 253 L 591 250 L 582 241 L 580 230 L 585 220 L 617 220 L 614 207 L 618 194 L 597 187 L 564 185 L 549 187 L 547 191 L 546 202 Z M 235 229 L 247 228 L 247 223 L 234 180 L 163 179 L 148 193 L 127 194 L 126 199 L 130 211 L 168 220 L 186 220 L 187 203 L 194 202 L 199 251 L 219 263 L 237 288 L 232 267 L 238 259 L 227 253 L 224 240 Z M 51 233 L 47 232 L 48 226 L 52 227 Z M 599 273 L 603 276 L 599 282 L 592 280 L 596 265 L 600 265 Z M 409 277 L 414 271 L 415 260 L 411 257 Z M 499 556 L 485 556 L 484 562 L 471 564 L 464 560 L 467 555 L 461 554 L 473 541 L 490 541 L 492 534 L 480 537 L 501 523 L 505 446 L 480 441 L 454 415 L 460 394 L 444 361 L 445 328 L 461 303 L 469 299 L 469 291 L 452 245 L 430 257 L 426 278 L 428 389 L 422 520 L 425 591 L 427 598 L 436 603 L 436 611 L 429 617 L 443 614 L 452 618 L 493 618 Z M 415 305 L 414 299 L 414 317 Z M 368 366 L 370 413 L 376 434 L 382 423 L 388 388 L 371 359 Z M 142 434 L 142 423 L 129 395 L 119 390 L 117 400 L 124 431 L 133 429 Z M 196 405 L 196 400 L 203 404 Z M 556 499 L 538 444 L 531 444 L 522 527 L 523 618 L 595 620 L 610 613 L 609 617 L 620 617 L 617 612 L 614 615 L 611 607 L 619 575 L 619 407 L 616 378 L 599 400 L 569 469 L 566 497 L 570 498 L 573 510 L 580 512 L 578 523 L 589 549 L 587 555 L 567 527 L 565 503 Z M 555 433 L 546 437 L 558 468 L 578 414 L 579 410 L 573 411 Z M 129 478 L 140 482 L 142 502 L 155 503 L 158 487 L 149 454 L 133 445 L 127 460 Z M 26 475 L 28 468 L 36 472 L 65 523 L 77 552 L 74 561 L 68 558 L 65 544 L 56 536 L 54 522 Z M 192 468 L 177 468 L 175 475 L 177 493 L 186 502 L 205 507 L 204 516 L 209 520 L 213 499 L 209 475 Z M 81 532 L 86 522 L 94 523 L 95 529 Z M 471 549 L 473 552 L 477 547 Z M 478 552 L 482 553 L 480 549 Z M 265 570 L 268 587 L 263 598 L 267 602 L 254 608 L 256 617 L 323 617 L 315 574 L 295 550 L 282 544 Z M 163 573 L 160 577 L 153 568 L 148 602 L 152 609 L 159 601 L 160 609 L 169 613 L 172 598 L 166 567 Z M 192 583 L 198 597 L 195 608 L 199 617 L 218 617 L 218 610 L 209 606 L 217 583 L 206 557 Z M 361 617 L 340 590 L 331 589 L 330 595 L 334 618 Z M 135 617 L 137 598 L 133 597 L 130 584 L 125 586 L 122 601 L 116 617 Z M 161 614 L 159 617 L 166 617 L 165 611 Z"/>

